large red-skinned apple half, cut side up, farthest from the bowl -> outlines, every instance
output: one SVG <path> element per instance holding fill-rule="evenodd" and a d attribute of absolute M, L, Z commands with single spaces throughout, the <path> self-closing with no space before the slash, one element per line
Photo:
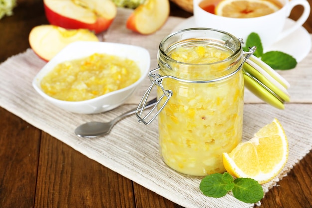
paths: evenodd
<path fill-rule="evenodd" d="M 89 29 L 95 33 L 107 30 L 117 9 L 110 0 L 44 0 L 50 24 L 66 29 Z"/>

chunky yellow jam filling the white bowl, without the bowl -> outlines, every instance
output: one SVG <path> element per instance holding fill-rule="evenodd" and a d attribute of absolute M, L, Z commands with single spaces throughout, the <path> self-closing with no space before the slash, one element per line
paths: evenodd
<path fill-rule="evenodd" d="M 94 53 L 57 64 L 43 77 L 41 88 L 59 100 L 82 101 L 128 87 L 140 75 L 140 69 L 133 60 Z"/>

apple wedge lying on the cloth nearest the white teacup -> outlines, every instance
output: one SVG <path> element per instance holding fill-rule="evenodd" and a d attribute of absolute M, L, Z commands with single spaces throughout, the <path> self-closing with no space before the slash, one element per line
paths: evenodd
<path fill-rule="evenodd" d="M 169 0 L 146 0 L 130 15 L 126 27 L 141 34 L 151 34 L 162 27 L 169 14 Z"/>

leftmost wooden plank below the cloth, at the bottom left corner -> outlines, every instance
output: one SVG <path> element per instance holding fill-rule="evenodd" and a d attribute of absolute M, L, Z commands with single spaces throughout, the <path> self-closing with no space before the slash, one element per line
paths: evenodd
<path fill-rule="evenodd" d="M 39 129 L 0 108 L 0 208 L 33 207 L 40 136 Z"/>

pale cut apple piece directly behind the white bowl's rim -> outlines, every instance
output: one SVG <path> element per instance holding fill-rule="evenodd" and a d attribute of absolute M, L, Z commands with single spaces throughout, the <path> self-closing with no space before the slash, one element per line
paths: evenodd
<path fill-rule="evenodd" d="M 51 60 L 69 43 L 75 41 L 99 41 L 97 36 L 87 29 L 67 30 L 55 25 L 40 25 L 29 33 L 29 44 L 43 60 Z"/>

